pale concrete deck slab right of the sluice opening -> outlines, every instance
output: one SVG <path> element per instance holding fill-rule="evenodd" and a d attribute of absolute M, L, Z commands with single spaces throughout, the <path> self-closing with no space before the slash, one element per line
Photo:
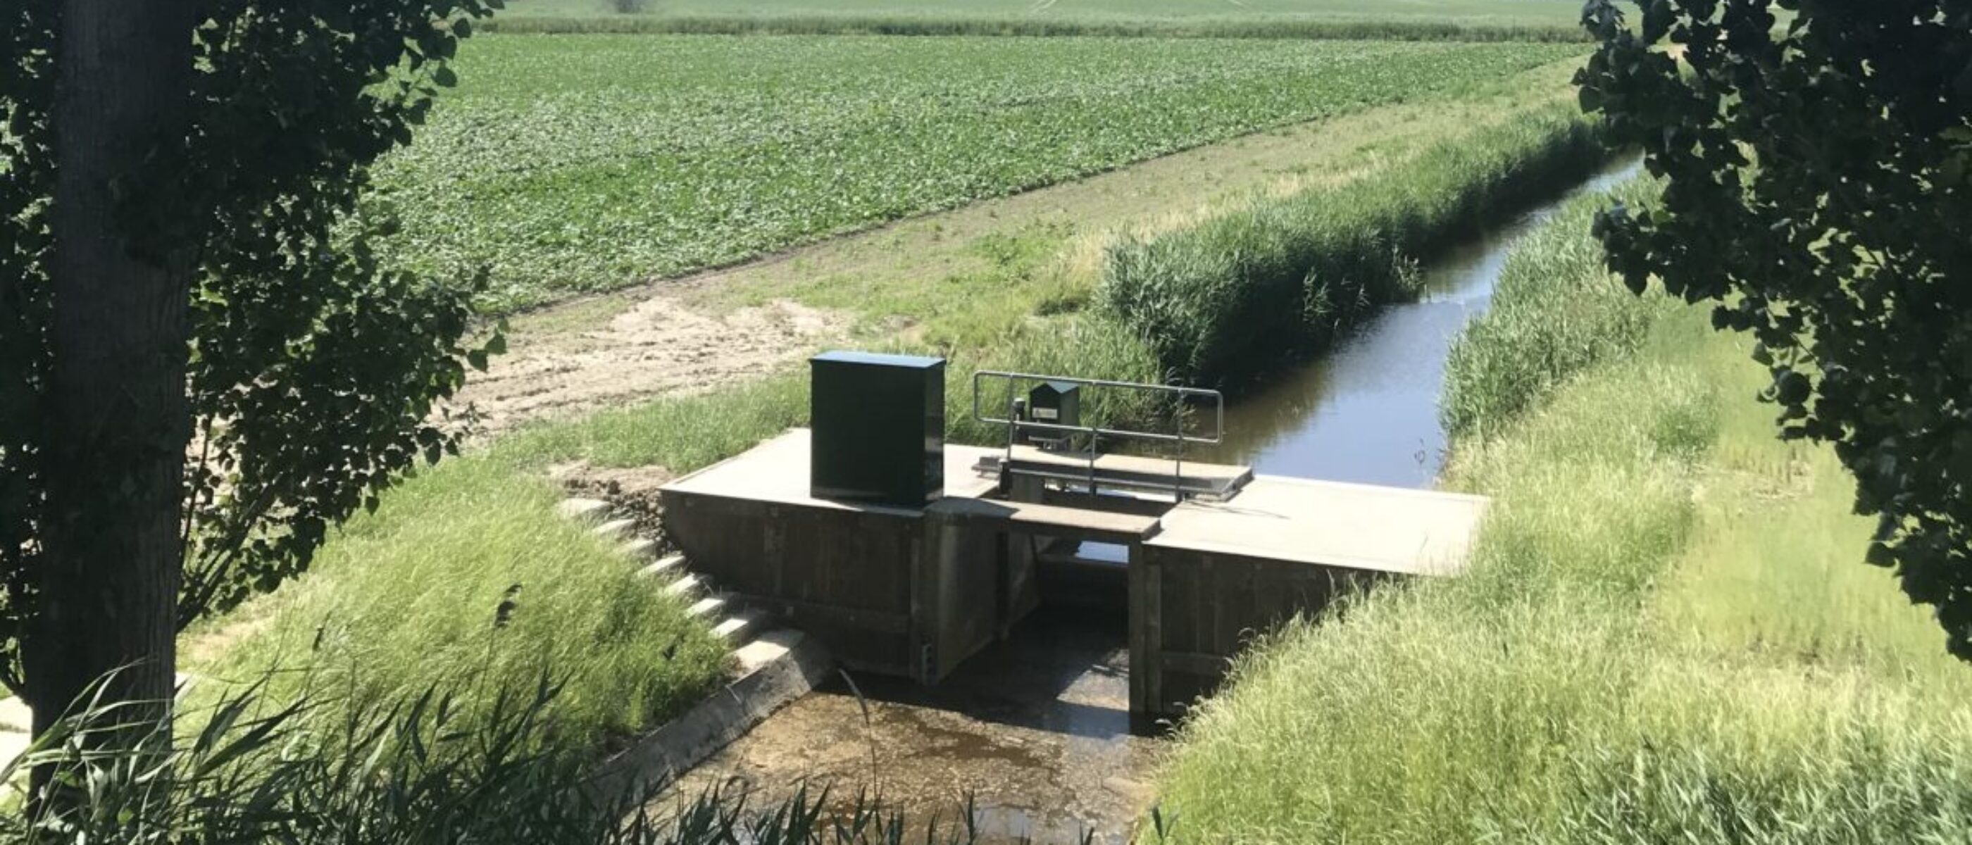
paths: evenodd
<path fill-rule="evenodd" d="M 1231 553 L 1400 575 L 1465 569 L 1483 496 L 1254 477 L 1225 502 L 1163 514 L 1150 548 Z"/>

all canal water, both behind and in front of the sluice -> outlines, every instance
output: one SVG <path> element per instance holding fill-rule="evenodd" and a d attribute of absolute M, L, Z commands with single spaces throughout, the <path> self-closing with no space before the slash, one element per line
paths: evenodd
<path fill-rule="evenodd" d="M 1625 163 L 1576 187 L 1603 191 Z M 1199 459 L 1260 473 L 1426 487 L 1445 435 L 1445 353 L 1487 307 L 1513 242 L 1568 197 L 1483 232 L 1424 268 L 1428 292 L 1386 307 L 1331 355 L 1278 374 L 1227 408 L 1229 437 Z M 913 819 L 952 821 L 970 800 L 994 837 L 1126 841 L 1154 800 L 1163 743 L 1128 731 L 1122 595 L 1043 607 L 937 687 L 842 676 L 686 772 L 672 796 L 708 788 L 773 804 L 830 788 L 880 794 Z"/>

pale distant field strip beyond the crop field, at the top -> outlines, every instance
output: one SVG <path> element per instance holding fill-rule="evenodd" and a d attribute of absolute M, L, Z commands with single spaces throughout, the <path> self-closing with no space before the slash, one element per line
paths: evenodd
<path fill-rule="evenodd" d="M 631 12 L 619 12 L 619 6 Z M 1584 41 L 1572 0 L 515 0 L 493 22 L 530 33 L 866 33 L 1373 37 L 1444 41 Z"/>

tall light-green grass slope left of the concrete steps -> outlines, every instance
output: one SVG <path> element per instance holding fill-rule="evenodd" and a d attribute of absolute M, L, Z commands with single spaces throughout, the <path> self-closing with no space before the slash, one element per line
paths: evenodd
<path fill-rule="evenodd" d="M 722 683 L 728 646 L 560 518 L 558 500 L 546 479 L 483 455 L 446 461 L 351 520 L 300 581 L 187 634 L 185 670 L 205 689 L 276 672 L 278 695 L 321 687 L 357 703 L 442 685 L 477 715 L 503 685 L 548 674 L 568 682 L 548 739 L 570 754 Z"/>

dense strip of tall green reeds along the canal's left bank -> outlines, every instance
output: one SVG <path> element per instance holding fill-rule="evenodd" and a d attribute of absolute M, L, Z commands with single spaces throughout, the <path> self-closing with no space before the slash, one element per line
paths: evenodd
<path fill-rule="evenodd" d="M 1418 260 L 1603 158 L 1572 108 L 1538 108 L 1367 179 L 1118 242 L 1098 299 L 1179 378 L 1225 382 L 1258 351 L 1325 345 L 1376 303 L 1412 295 Z"/>

